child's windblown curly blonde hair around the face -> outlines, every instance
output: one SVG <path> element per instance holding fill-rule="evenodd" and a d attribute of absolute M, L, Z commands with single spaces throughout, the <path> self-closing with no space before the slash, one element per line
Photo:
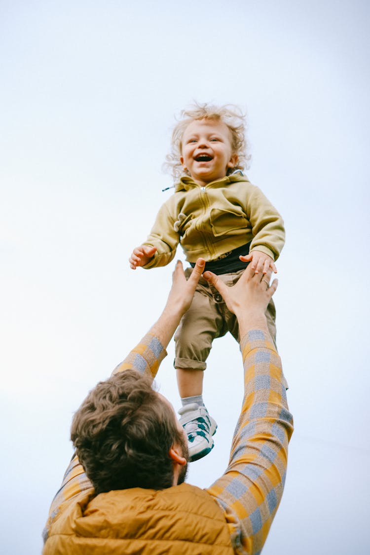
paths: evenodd
<path fill-rule="evenodd" d="M 190 175 L 189 171 L 184 170 L 180 162 L 183 154 L 183 136 L 187 126 L 198 119 L 215 119 L 224 122 L 230 129 L 231 134 L 231 150 L 232 154 L 237 154 L 237 165 L 227 170 L 227 175 L 235 170 L 248 168 L 248 162 L 251 158 L 247 154 L 247 141 L 245 138 L 245 114 L 234 104 L 224 104 L 222 106 L 214 106 L 212 104 L 192 104 L 189 108 L 181 110 L 178 123 L 175 125 L 172 139 L 171 152 L 166 155 L 164 168 L 170 171 L 174 180 L 178 180 L 184 175 Z"/>

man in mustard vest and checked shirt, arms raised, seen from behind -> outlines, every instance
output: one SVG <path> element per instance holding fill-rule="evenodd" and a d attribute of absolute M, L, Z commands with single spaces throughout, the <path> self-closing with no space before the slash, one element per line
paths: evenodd
<path fill-rule="evenodd" d="M 260 553 L 280 502 L 293 427 L 265 310 L 277 280 L 249 265 L 233 287 L 205 272 L 236 315 L 245 394 L 225 474 L 184 483 L 187 447 L 170 403 L 151 387 L 204 269 L 176 264 L 168 301 L 140 344 L 75 413 L 76 454 L 50 508 L 44 555 Z"/>

